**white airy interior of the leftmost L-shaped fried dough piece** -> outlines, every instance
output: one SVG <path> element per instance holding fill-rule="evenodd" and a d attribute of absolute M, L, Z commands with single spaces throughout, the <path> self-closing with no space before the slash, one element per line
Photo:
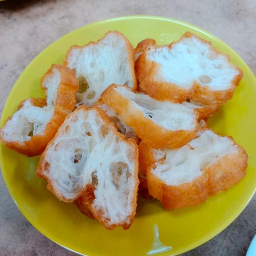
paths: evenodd
<path fill-rule="evenodd" d="M 43 134 L 44 128 L 52 118 L 60 84 L 60 73 L 57 69 L 44 81 L 47 90 L 47 106 L 34 106 L 30 99 L 25 100 L 22 108 L 17 110 L 2 128 L 3 136 L 8 141 L 27 141 L 36 134 Z"/>

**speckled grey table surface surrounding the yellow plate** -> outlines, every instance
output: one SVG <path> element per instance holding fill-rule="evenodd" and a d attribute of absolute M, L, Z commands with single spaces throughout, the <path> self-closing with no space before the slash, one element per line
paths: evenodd
<path fill-rule="evenodd" d="M 231 46 L 256 74 L 254 0 L 7 0 L 0 2 L 0 112 L 24 68 L 46 46 L 91 22 L 156 15 L 199 26 Z M 256 233 L 256 196 L 218 236 L 184 256 L 242 256 Z M 20 213 L 0 176 L 0 255 L 72 256 Z"/>

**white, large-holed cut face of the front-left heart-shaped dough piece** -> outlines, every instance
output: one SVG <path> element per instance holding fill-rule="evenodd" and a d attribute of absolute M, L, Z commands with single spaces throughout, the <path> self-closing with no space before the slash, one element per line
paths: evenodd
<path fill-rule="evenodd" d="M 94 109 L 78 109 L 48 148 L 44 172 L 60 196 L 73 200 L 92 184 L 92 204 L 109 224 L 126 220 L 134 194 L 134 147 L 114 134 Z"/>

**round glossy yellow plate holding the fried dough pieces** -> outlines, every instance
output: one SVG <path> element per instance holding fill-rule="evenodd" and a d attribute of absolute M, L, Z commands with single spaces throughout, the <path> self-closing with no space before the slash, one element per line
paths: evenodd
<path fill-rule="evenodd" d="M 134 223 L 129 230 L 106 230 L 96 220 L 80 214 L 74 204 L 58 201 L 35 174 L 39 157 L 28 158 L 1 144 L 0 159 L 8 190 L 24 216 L 54 242 L 84 255 L 176 255 L 214 237 L 242 212 L 256 188 L 256 78 L 244 61 L 208 32 L 185 22 L 152 16 L 128 16 L 84 26 L 50 45 L 24 70 L 14 85 L 2 114 L 1 125 L 25 98 L 41 97 L 41 76 L 52 63 L 62 63 L 73 44 L 84 45 L 102 38 L 108 30 L 124 33 L 134 46 L 144 38 L 158 44 L 178 40 L 190 31 L 209 40 L 230 55 L 244 77 L 232 100 L 210 120 L 216 132 L 232 135 L 248 155 L 245 178 L 197 207 L 166 211 L 157 200 L 138 198 Z"/>

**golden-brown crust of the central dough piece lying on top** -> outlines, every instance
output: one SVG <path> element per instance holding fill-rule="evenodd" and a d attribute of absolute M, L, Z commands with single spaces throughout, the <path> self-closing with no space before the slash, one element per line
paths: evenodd
<path fill-rule="evenodd" d="M 114 88 L 117 87 L 117 84 L 109 86 L 102 93 L 102 100 L 120 114 L 122 120 L 128 126 L 133 127 L 138 137 L 152 148 L 180 148 L 194 138 L 198 130 L 198 124 L 193 131 L 171 131 L 158 126 L 152 120 L 145 118 L 144 114 L 141 111 L 138 111 L 130 100 L 114 90 Z M 124 87 L 133 91 L 127 86 Z M 135 91 L 133 92 L 137 93 Z"/>

